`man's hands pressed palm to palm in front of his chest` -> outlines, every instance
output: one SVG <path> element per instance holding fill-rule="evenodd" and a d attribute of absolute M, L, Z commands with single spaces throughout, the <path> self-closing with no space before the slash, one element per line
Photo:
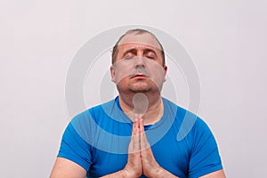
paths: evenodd
<path fill-rule="evenodd" d="M 144 132 L 143 119 L 134 119 L 131 142 L 128 148 L 128 161 L 123 170 L 126 177 L 135 178 L 142 174 L 147 177 L 159 177 L 164 169 L 158 165 L 150 149 L 150 143 Z"/>

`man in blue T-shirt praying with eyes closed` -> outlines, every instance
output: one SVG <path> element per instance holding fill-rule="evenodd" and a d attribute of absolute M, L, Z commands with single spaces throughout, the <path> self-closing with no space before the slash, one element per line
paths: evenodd
<path fill-rule="evenodd" d="M 51 177 L 225 177 L 207 125 L 161 97 L 166 71 L 156 36 L 143 29 L 121 36 L 110 67 L 119 95 L 70 122 Z M 183 119 L 195 120 L 178 140 Z"/>

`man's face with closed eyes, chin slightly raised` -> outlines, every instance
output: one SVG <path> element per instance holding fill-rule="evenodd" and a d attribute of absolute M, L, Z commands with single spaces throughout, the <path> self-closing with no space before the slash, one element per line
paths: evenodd
<path fill-rule="evenodd" d="M 157 40 L 150 34 L 128 34 L 117 47 L 117 57 L 110 67 L 118 92 L 160 92 L 166 77 L 166 65 Z"/>

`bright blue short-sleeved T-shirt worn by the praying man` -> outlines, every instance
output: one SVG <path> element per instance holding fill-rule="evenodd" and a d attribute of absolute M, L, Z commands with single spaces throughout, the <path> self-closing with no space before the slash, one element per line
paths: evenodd
<path fill-rule="evenodd" d="M 181 178 L 195 178 L 223 169 L 214 136 L 206 123 L 165 98 L 163 103 L 161 119 L 154 125 L 145 125 L 158 164 Z M 118 97 L 85 110 L 66 128 L 58 157 L 84 167 L 87 177 L 115 173 L 127 163 L 132 125 L 120 108 Z"/>

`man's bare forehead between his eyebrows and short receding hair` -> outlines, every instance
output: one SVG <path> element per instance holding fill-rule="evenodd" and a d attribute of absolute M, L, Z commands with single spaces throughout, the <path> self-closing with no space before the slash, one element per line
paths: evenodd
<path fill-rule="evenodd" d="M 155 39 L 154 36 L 151 36 L 149 33 L 127 34 L 120 40 L 117 45 L 121 47 L 129 47 L 134 45 L 147 46 L 150 48 L 156 48 L 158 50 L 161 50 L 158 41 Z"/>

